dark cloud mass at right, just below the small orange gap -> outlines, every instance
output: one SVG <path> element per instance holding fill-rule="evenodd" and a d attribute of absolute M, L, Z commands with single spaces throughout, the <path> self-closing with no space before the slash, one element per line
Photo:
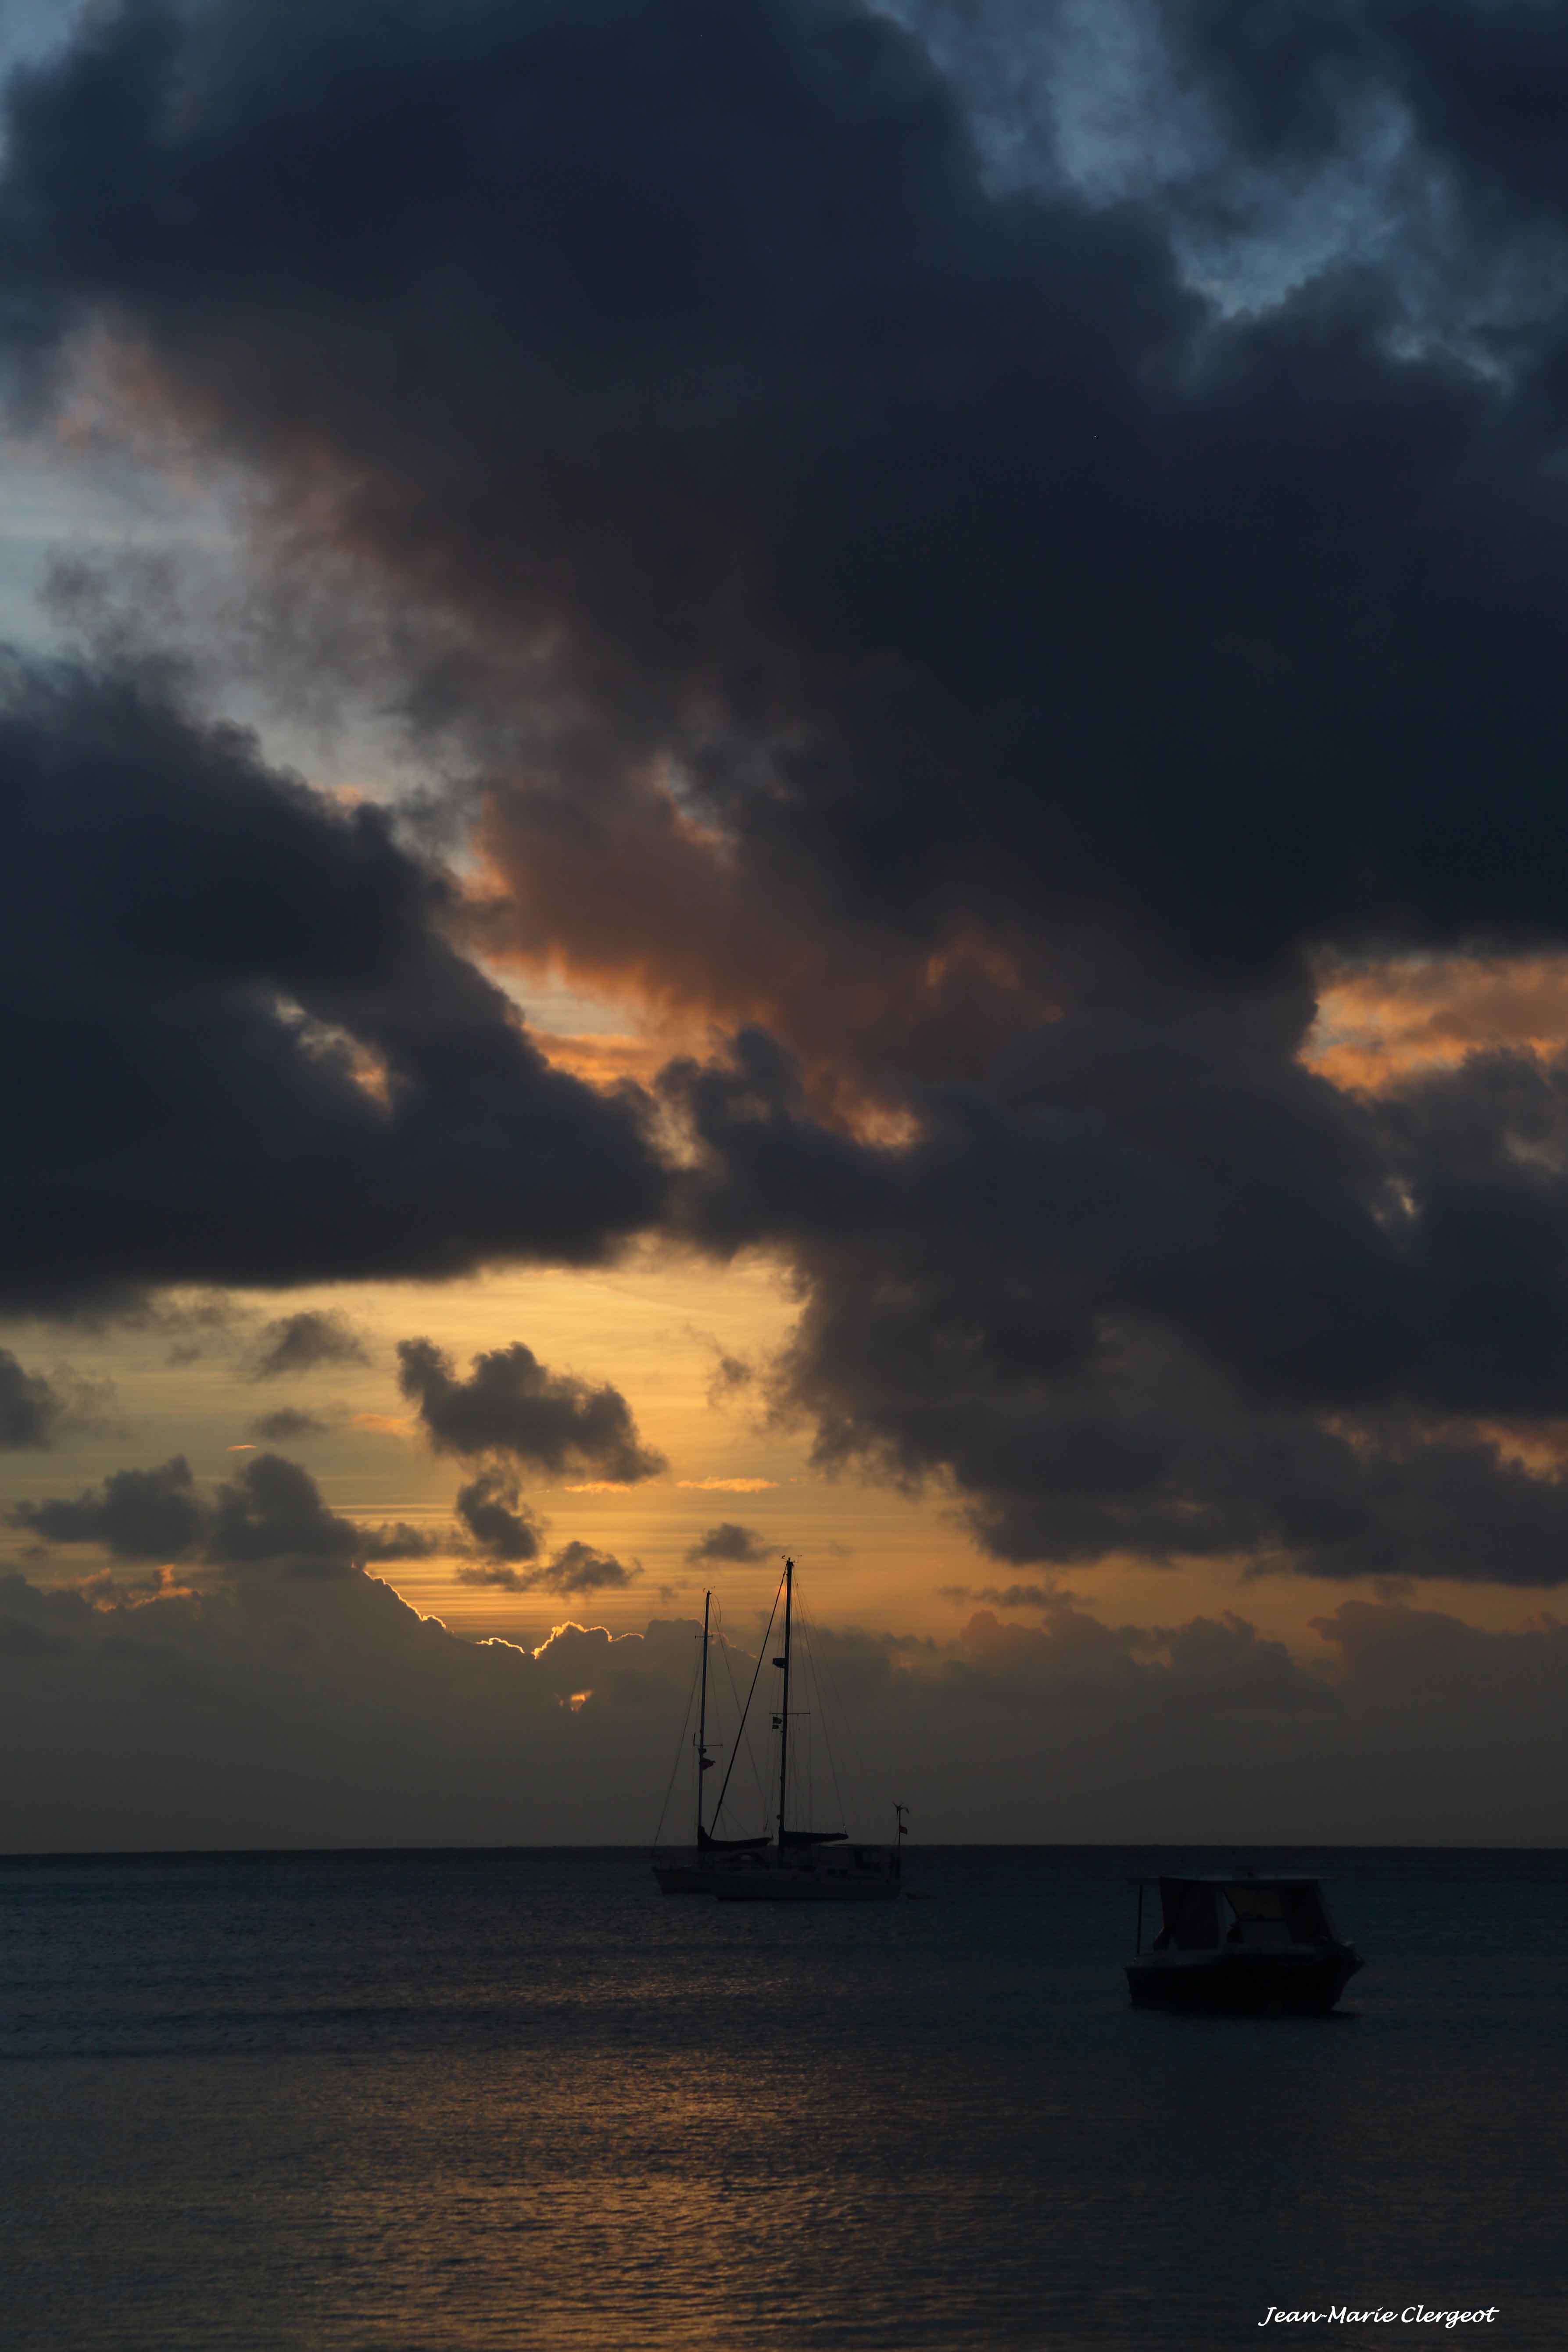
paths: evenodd
<path fill-rule="evenodd" d="M 719 1247 L 806 1279 L 773 1397 L 825 1468 L 950 1477 L 1009 1562 L 1568 1581 L 1568 1073 L 1361 1103 L 1232 1030 L 1063 1021 L 924 1134 L 823 1129 L 766 1040 L 668 1073 Z M 1460 1421 L 1455 1423 L 1455 1416 Z"/>

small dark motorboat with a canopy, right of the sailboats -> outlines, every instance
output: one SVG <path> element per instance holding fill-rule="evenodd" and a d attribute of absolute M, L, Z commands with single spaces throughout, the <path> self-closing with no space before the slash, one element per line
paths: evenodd
<path fill-rule="evenodd" d="M 1241 2016 L 1328 2016 L 1363 1966 L 1328 1917 L 1321 1879 L 1161 1877 L 1159 1933 L 1143 1943 L 1147 1879 L 1138 1879 L 1138 1952 L 1126 1990 L 1140 2009 Z"/>

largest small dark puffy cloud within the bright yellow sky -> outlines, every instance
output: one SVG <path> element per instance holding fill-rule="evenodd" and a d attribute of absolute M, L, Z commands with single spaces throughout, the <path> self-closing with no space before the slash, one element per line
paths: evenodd
<path fill-rule="evenodd" d="M 397 1367 L 437 1454 L 510 1454 L 557 1477 L 576 1470 L 628 1486 L 665 1468 L 618 1388 L 550 1371 L 522 1341 L 477 1355 L 465 1381 L 428 1338 L 397 1341 Z"/>

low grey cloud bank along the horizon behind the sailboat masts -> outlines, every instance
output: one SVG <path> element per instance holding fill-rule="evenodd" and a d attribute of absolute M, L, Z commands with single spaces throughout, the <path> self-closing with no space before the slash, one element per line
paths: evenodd
<path fill-rule="evenodd" d="M 360 1571 L 183 1592 L 5 1571 L 0 1846 L 642 1844 L 696 1630 L 567 1623 L 520 1649 Z M 938 1844 L 1563 1842 L 1566 1628 L 1345 1602 L 1319 1630 L 1302 1665 L 1234 1613 L 1100 1625 L 1056 1595 L 952 1644 L 813 1649 L 870 1764 L 863 1828 L 912 1783 Z"/>

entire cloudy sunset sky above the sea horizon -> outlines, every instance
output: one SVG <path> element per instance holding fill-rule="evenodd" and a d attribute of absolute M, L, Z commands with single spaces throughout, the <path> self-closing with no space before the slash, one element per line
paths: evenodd
<path fill-rule="evenodd" d="M 0 1846 L 1568 1837 L 1559 14 L 0 68 Z"/>

